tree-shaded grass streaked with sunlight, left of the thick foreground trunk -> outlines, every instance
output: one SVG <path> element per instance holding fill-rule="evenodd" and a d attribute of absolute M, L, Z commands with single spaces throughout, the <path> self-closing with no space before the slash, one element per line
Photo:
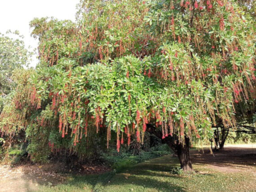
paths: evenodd
<path fill-rule="evenodd" d="M 180 178 L 179 175 L 170 174 L 170 170 L 175 166 L 175 161 L 172 157 L 165 156 L 136 164 L 119 173 L 111 171 L 100 175 L 69 175 L 70 179 L 65 183 L 57 184 L 54 188 L 49 188 L 50 186 L 47 183 L 33 175 L 25 175 L 24 177 L 47 186 L 43 191 L 124 192 L 133 188 L 134 191 L 145 191 L 147 189 L 151 191 L 176 190 L 185 192 L 184 188 L 172 182 L 173 179 Z"/>

